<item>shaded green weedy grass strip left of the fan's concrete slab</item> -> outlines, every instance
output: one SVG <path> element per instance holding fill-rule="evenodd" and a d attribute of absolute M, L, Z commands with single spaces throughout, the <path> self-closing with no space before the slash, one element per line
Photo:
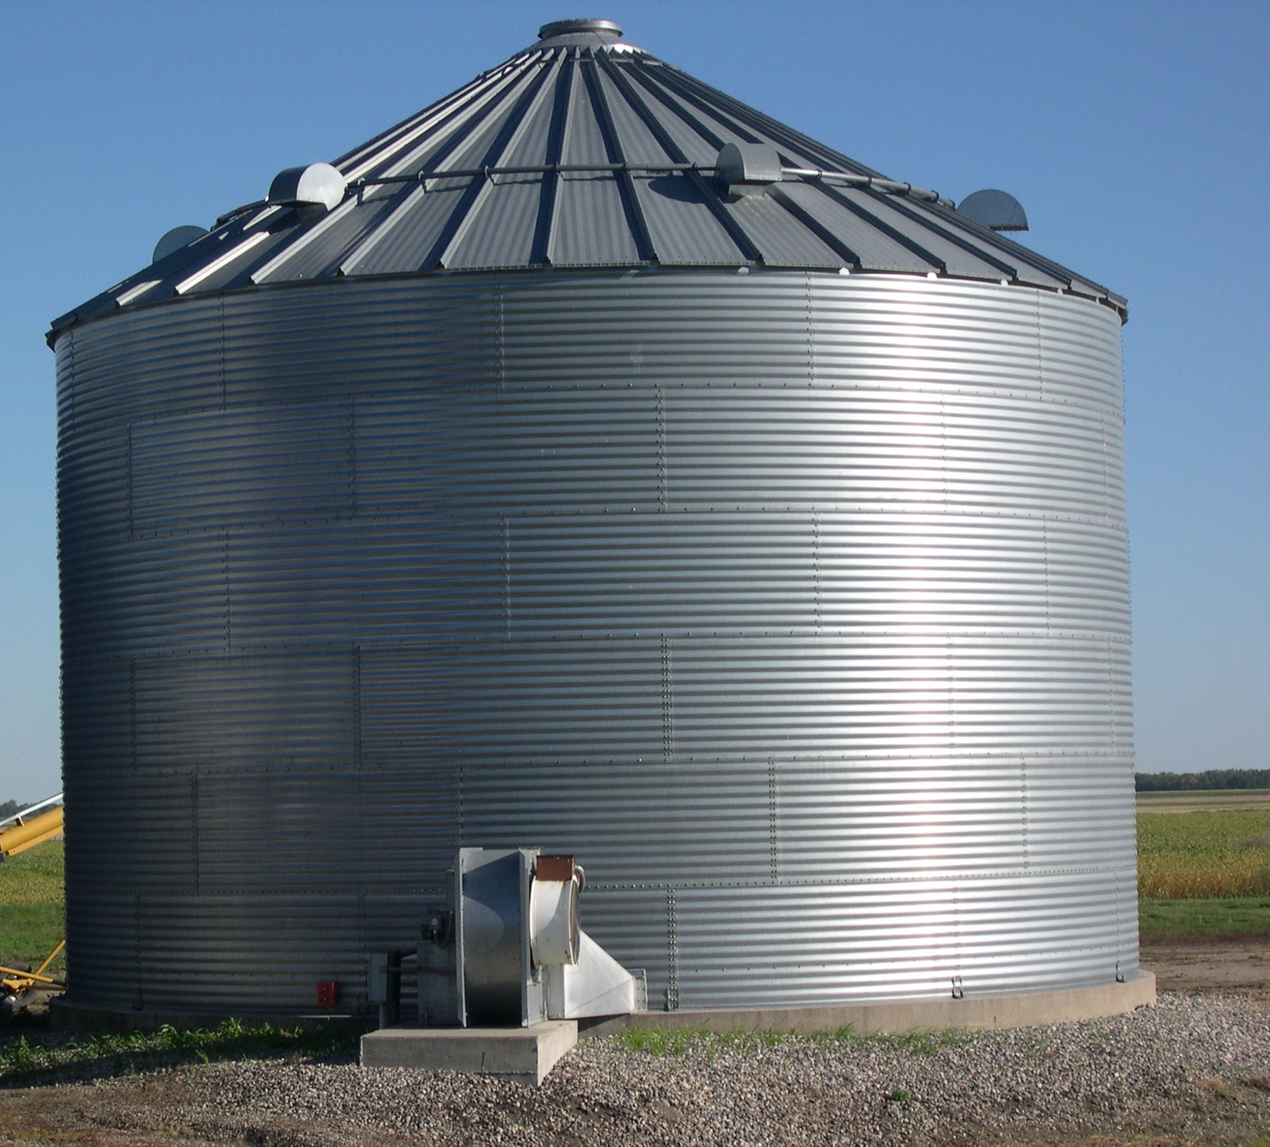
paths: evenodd
<path fill-rule="evenodd" d="M 14 1085 L 67 1067 L 154 1067 L 170 1063 L 211 1063 L 260 1056 L 357 1054 L 359 1034 L 345 1028 L 248 1028 L 226 1020 L 218 1028 L 183 1029 L 165 1025 L 157 1031 L 90 1035 L 62 1044 L 44 1044 L 25 1035 L 0 1045 L 0 1085 Z"/>

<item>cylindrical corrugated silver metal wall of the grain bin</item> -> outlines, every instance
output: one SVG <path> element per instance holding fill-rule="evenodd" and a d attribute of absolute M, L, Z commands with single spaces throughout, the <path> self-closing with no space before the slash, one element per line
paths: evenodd
<path fill-rule="evenodd" d="M 356 1006 L 460 843 L 577 852 L 672 1007 L 1134 973 L 1109 307 L 427 277 L 57 356 L 76 1001 Z"/>

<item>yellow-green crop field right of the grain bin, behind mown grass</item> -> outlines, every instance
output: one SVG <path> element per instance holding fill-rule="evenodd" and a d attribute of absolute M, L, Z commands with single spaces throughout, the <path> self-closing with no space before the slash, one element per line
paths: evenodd
<path fill-rule="evenodd" d="M 1270 810 L 1139 813 L 1138 894 L 1270 897 Z"/>

